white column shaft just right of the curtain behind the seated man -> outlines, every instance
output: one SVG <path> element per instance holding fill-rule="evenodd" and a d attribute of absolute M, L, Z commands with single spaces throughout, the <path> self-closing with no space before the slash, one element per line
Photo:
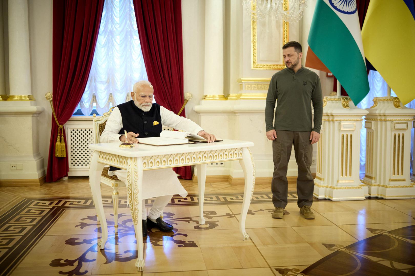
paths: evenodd
<path fill-rule="evenodd" d="M 204 99 L 220 100 L 223 95 L 223 0 L 205 3 Z"/>

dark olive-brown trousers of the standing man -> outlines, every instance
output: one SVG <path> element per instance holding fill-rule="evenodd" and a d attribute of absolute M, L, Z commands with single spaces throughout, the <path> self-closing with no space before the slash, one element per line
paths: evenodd
<path fill-rule="evenodd" d="M 311 206 L 314 180 L 311 175 L 312 144 L 310 132 L 276 130 L 277 139 L 272 142 L 274 173 L 271 181 L 274 207 L 285 208 L 288 201 L 288 161 L 294 144 L 295 161 L 298 165 L 297 194 L 298 207 Z"/>

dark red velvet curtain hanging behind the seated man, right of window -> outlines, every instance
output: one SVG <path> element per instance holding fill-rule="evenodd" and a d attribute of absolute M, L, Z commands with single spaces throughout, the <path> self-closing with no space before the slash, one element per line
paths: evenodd
<path fill-rule="evenodd" d="M 138 34 L 156 102 L 178 113 L 183 105 L 181 0 L 133 0 Z M 185 112 L 181 113 L 185 117 Z M 190 166 L 174 169 L 191 179 Z"/>

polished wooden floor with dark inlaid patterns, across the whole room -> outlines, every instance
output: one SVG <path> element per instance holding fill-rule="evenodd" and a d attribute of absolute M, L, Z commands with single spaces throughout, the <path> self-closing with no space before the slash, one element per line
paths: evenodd
<path fill-rule="evenodd" d="M 252 197 L 245 242 L 239 233 L 243 190 L 210 186 L 227 190 L 205 193 L 205 225 L 199 224 L 195 192 L 173 197 L 163 219 L 174 230 L 149 229 L 142 273 L 134 267 L 137 242 L 125 195 L 119 199 L 118 233 L 112 197 L 103 196 L 109 233 L 105 249 L 99 250 L 101 228 L 90 196 L 48 195 L 59 190 L 52 185 L 36 188 L 41 195 L 28 188 L 12 197 L 16 189 L 0 189 L 0 276 L 415 275 L 413 199 L 315 199 L 316 218 L 305 220 L 292 190 L 284 218 L 273 219 L 272 194 L 264 187 Z M 146 206 L 151 203 L 148 199 Z"/>

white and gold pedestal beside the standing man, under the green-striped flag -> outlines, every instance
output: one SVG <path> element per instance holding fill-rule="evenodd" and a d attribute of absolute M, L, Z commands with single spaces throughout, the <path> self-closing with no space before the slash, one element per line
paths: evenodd
<path fill-rule="evenodd" d="M 333 201 L 365 199 L 359 153 L 362 117 L 368 112 L 342 96 L 325 97 L 323 106 L 314 196 Z"/>

